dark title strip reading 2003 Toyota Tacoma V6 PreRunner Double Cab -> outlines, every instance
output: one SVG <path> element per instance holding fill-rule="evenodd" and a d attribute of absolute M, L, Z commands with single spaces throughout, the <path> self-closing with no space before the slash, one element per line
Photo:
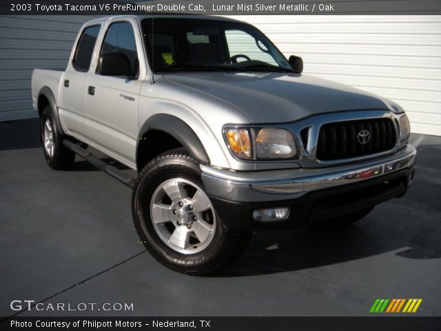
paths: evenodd
<path fill-rule="evenodd" d="M 440 0 L 26 0 L 3 1 L 1 15 L 73 14 L 441 14 Z"/>

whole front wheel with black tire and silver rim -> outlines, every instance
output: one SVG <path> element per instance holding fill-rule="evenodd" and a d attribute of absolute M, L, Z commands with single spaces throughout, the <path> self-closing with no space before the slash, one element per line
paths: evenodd
<path fill-rule="evenodd" d="M 198 162 L 182 148 L 145 165 L 132 194 L 132 214 L 150 254 L 185 274 L 213 274 L 251 237 L 223 224 L 205 192 Z"/>

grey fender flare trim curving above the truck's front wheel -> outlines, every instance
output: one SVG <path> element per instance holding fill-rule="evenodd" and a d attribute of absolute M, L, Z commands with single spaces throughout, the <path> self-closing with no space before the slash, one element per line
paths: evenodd
<path fill-rule="evenodd" d="M 170 114 L 155 114 L 147 119 L 139 130 L 136 143 L 136 155 L 138 155 L 141 137 L 151 130 L 163 131 L 170 134 L 174 139 L 189 152 L 189 154 L 201 163 L 209 164 L 209 157 L 197 134 L 183 120 Z"/>

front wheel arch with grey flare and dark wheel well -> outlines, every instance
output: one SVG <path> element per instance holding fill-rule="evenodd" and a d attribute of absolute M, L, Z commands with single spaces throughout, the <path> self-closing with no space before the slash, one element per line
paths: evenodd
<path fill-rule="evenodd" d="M 162 141 L 163 143 L 158 143 Z M 170 114 L 155 114 L 141 126 L 136 143 L 136 168 L 141 168 L 161 152 L 183 147 L 197 161 L 209 164 L 209 157 L 197 134 L 185 123 Z"/>

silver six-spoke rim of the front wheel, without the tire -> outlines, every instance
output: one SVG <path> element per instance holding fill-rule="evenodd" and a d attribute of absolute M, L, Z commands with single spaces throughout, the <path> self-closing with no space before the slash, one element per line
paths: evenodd
<path fill-rule="evenodd" d="M 182 254 L 207 248 L 216 230 L 212 202 L 198 185 L 187 179 L 161 183 L 153 193 L 150 216 L 161 240 Z"/>

